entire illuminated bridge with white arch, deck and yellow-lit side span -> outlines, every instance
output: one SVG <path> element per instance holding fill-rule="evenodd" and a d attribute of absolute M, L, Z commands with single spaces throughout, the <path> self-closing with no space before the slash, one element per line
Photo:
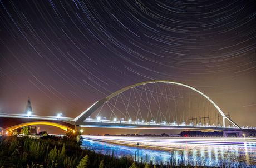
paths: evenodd
<path fill-rule="evenodd" d="M 11 122 L 6 122 L 6 121 Z M 46 124 L 63 130 L 81 127 L 199 129 L 249 132 L 198 89 L 175 81 L 147 81 L 127 86 L 95 102 L 73 120 L 0 117 L 0 129 Z M 227 126 L 228 123 L 228 126 Z M 4 125 L 4 126 L 3 126 Z"/>

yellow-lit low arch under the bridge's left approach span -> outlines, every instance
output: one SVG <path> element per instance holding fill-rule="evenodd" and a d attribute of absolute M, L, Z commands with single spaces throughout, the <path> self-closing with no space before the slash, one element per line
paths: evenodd
<path fill-rule="evenodd" d="M 65 130 L 65 131 L 68 131 L 68 130 L 75 131 L 71 127 L 67 127 L 65 125 L 61 125 L 60 123 L 54 123 L 54 122 L 48 122 L 48 121 L 35 121 L 35 122 L 21 123 L 19 125 L 15 125 L 15 126 L 9 127 L 6 130 L 13 131 L 13 130 L 16 130 L 16 129 L 20 128 L 20 127 L 29 126 L 29 125 L 50 125 L 50 126 L 58 127 L 58 128 L 60 128 L 62 130 Z"/>

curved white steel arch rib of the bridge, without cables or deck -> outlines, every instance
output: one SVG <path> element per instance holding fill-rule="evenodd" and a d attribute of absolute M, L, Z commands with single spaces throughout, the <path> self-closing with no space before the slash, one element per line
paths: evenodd
<path fill-rule="evenodd" d="M 180 85 L 180 86 L 184 86 L 184 87 L 188 87 L 191 90 L 194 90 L 196 92 L 198 92 L 200 95 L 204 96 L 207 100 L 209 100 L 214 106 L 215 108 L 219 111 L 219 113 L 221 114 L 221 116 L 223 117 L 223 126 L 225 127 L 225 118 L 227 118 L 227 120 L 229 120 L 230 122 L 232 122 L 235 126 L 237 126 L 238 128 L 240 128 L 235 122 L 233 122 L 232 120 L 230 120 L 230 118 L 228 118 L 227 116 L 224 115 L 223 111 L 220 110 L 219 106 L 216 105 L 216 103 L 210 99 L 210 97 L 206 96 L 203 92 L 197 90 L 196 88 L 186 85 L 185 83 L 180 83 L 180 82 L 174 82 L 174 81 L 166 81 L 166 80 L 156 80 L 156 81 L 146 81 L 146 82 L 141 82 L 141 83 L 136 83 L 134 85 L 131 86 L 127 86 L 125 88 L 122 88 L 114 93 L 112 93 L 111 95 L 103 98 L 100 101 L 97 101 L 96 103 L 94 103 L 91 107 L 87 108 L 86 111 L 82 112 L 79 116 L 77 116 L 74 121 L 76 121 L 76 125 L 81 125 L 80 123 L 82 123 L 88 116 L 90 116 L 95 110 L 97 110 L 97 108 L 99 108 L 101 105 L 103 105 L 105 102 L 107 102 L 108 100 L 110 100 L 112 97 L 115 97 L 117 95 L 119 95 L 119 93 L 124 92 L 126 90 L 129 90 L 132 87 L 136 87 L 136 86 L 140 86 L 140 85 L 145 85 L 148 83 L 172 83 L 174 85 Z"/>

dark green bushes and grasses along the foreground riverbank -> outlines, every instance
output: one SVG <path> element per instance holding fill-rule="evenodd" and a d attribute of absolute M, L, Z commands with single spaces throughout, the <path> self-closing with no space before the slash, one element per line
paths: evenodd
<path fill-rule="evenodd" d="M 177 160 L 174 152 L 170 154 L 170 159 L 166 163 L 152 164 L 152 161 L 145 163 L 135 162 L 132 156 L 122 156 L 116 158 L 112 154 L 97 154 L 93 150 L 81 149 L 81 140 L 78 132 L 67 132 L 64 137 L 43 135 L 40 139 L 24 137 L 0 137 L 0 167 L 124 167 L 124 168 L 153 168 L 153 167 L 205 167 L 205 161 L 198 162 Z M 246 167 L 244 162 L 227 164 L 223 162 L 214 167 Z"/>

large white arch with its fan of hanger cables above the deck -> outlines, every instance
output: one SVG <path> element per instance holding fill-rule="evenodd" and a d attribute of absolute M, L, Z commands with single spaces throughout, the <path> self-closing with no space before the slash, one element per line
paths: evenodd
<path fill-rule="evenodd" d="M 109 115 L 105 111 L 106 108 Z M 184 83 L 163 80 L 141 82 L 122 88 L 94 103 L 74 121 L 76 125 L 83 125 L 85 121 L 92 121 L 92 116 L 94 121 L 128 121 L 149 125 L 152 122 L 160 125 L 189 123 L 193 126 L 206 126 L 205 120 L 208 125 L 215 120 L 216 126 L 225 127 L 225 120 L 228 120 L 230 125 L 240 129 L 229 115 L 225 115 L 203 92 Z"/>

